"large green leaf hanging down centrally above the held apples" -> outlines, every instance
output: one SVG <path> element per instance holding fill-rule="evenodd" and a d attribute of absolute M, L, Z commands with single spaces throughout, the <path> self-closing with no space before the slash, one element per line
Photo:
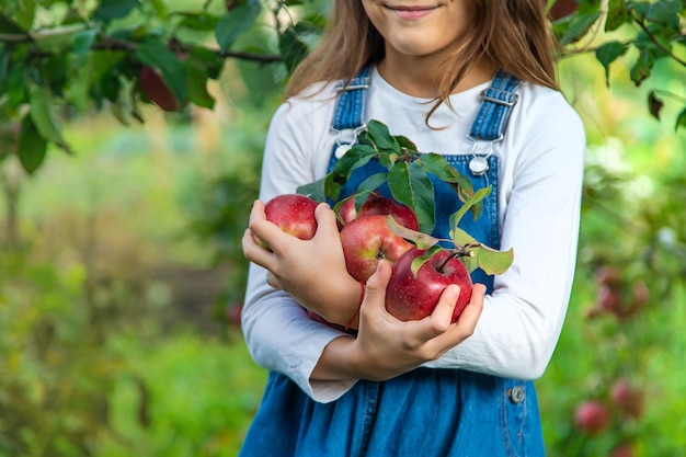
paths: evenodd
<path fill-rule="evenodd" d="M 414 162 L 397 162 L 388 171 L 388 186 L 393 198 L 414 210 L 420 231 L 431 233 L 434 229 L 434 185 Z"/>

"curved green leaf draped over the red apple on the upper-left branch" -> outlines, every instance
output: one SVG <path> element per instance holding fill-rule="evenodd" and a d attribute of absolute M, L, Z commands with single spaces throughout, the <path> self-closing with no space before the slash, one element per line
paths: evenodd
<path fill-rule="evenodd" d="M 188 85 L 183 65 L 176 55 L 158 38 L 148 38 L 136 48 L 136 58 L 148 67 L 157 68 L 179 103 L 188 98 Z"/>

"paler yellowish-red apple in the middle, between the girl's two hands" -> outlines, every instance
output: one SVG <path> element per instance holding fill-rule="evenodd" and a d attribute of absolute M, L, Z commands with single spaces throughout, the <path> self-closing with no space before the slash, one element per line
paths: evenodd
<path fill-rule="evenodd" d="M 366 283 L 376 271 L 379 260 L 395 263 L 412 243 L 393 233 L 388 216 L 358 216 L 341 230 L 345 265 L 355 279 Z"/>

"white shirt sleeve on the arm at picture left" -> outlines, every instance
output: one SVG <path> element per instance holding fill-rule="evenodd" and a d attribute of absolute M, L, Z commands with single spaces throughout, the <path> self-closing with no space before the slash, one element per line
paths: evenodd
<path fill-rule="evenodd" d="M 285 103 L 276 111 L 264 150 L 262 201 L 293 193 L 298 185 L 320 178 L 311 157 L 319 140 L 307 135 L 322 132 L 315 124 L 328 118 L 315 103 Z M 312 128 L 302 129 L 299 124 Z M 310 319 L 290 295 L 266 283 L 266 274 L 263 267 L 250 265 L 241 327 L 251 356 L 260 366 L 289 377 L 313 400 L 335 400 L 355 381 L 311 381 L 310 375 L 324 347 L 345 333 Z"/>

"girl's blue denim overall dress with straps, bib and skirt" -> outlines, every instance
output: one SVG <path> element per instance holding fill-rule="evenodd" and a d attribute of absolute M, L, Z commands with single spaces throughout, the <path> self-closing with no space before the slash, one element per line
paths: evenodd
<path fill-rule="evenodd" d="M 368 69 L 341 95 L 332 123 L 334 130 L 364 128 Z M 470 138 L 489 145 L 502 139 L 519 81 L 499 72 L 482 93 L 482 105 Z M 351 135 L 354 137 L 354 135 Z M 334 146 L 330 170 L 336 160 Z M 345 145 L 343 149 L 345 150 Z M 341 151 L 342 151 L 341 150 Z M 445 156 L 472 180 L 475 190 L 493 185 L 477 221 L 466 215 L 460 227 L 477 240 L 499 248 L 498 157 L 487 153 L 488 170 L 475 175 L 473 155 Z M 353 173 L 341 192 L 351 195 L 367 176 L 382 171 L 369 162 Z M 447 238 L 448 218 L 461 203 L 455 191 L 434 181 L 436 228 Z M 388 188 L 379 188 L 388 194 Z M 493 278 L 480 270 L 475 282 L 489 292 Z M 462 369 L 418 368 L 384 382 L 359 380 L 331 403 L 318 403 L 289 378 L 270 373 L 262 404 L 245 437 L 240 457 L 500 457 L 544 456 L 542 433 L 534 384 Z"/>

